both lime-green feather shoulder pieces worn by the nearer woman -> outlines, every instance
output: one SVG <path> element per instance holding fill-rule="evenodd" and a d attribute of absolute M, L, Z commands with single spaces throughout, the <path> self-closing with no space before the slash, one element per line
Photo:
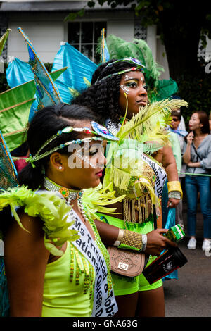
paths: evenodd
<path fill-rule="evenodd" d="M 110 185 L 108 185 L 110 186 Z M 84 189 L 83 204 L 87 216 L 98 218 L 96 213 L 115 213 L 115 208 L 106 207 L 122 201 L 124 195 L 115 197 L 115 192 L 110 192 L 108 187 L 102 189 L 102 185 L 93 189 Z M 44 222 L 44 244 L 51 254 L 60 256 L 63 254 L 59 247 L 67 241 L 79 238 L 76 230 L 70 229 L 73 222 L 68 221 L 68 213 L 71 206 L 66 204 L 62 196 L 51 191 L 32 191 L 25 186 L 15 187 L 3 191 L 0 194 L 0 211 L 10 206 L 11 213 L 20 227 L 27 231 L 18 216 L 17 208 L 22 207 L 29 216 L 38 217 Z"/>

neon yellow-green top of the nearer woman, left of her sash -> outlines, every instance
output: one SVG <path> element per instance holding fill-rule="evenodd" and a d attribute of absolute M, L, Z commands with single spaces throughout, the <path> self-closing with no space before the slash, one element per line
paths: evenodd
<path fill-rule="evenodd" d="M 79 285 L 76 285 L 77 261 L 74 254 L 74 275 L 70 282 L 70 247 L 68 242 L 67 249 L 63 256 L 46 266 L 44 277 L 43 294 L 43 317 L 90 317 L 93 306 L 93 295 L 90 290 L 84 294 L 84 273 L 79 274 Z M 73 246 L 73 245 L 72 245 Z M 75 250 L 75 246 L 73 246 Z M 82 254 L 78 251 L 82 261 Z M 85 261 L 87 263 L 88 261 Z M 93 273 L 95 278 L 95 273 Z M 93 289 L 94 293 L 94 282 Z"/>

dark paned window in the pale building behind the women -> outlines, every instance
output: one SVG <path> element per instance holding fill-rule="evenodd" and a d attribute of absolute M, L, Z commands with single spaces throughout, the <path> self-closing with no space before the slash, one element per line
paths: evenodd
<path fill-rule="evenodd" d="M 96 46 L 103 27 L 106 29 L 106 22 L 68 23 L 68 43 L 91 61 L 99 63 L 100 55 L 96 54 Z"/>

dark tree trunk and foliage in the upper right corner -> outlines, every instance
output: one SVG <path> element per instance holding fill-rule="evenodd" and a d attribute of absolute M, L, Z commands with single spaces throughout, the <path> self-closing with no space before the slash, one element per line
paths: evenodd
<path fill-rule="evenodd" d="M 111 8 L 129 6 L 141 25 L 157 25 L 165 44 L 170 77 L 177 81 L 178 95 L 189 104 L 183 113 L 186 123 L 194 111 L 210 113 L 211 73 L 205 70 L 205 61 L 198 58 L 198 45 L 201 40 L 205 47 L 207 37 L 211 39 L 211 1 L 91 0 L 88 6 L 94 7 L 96 2 L 107 3 Z"/>

